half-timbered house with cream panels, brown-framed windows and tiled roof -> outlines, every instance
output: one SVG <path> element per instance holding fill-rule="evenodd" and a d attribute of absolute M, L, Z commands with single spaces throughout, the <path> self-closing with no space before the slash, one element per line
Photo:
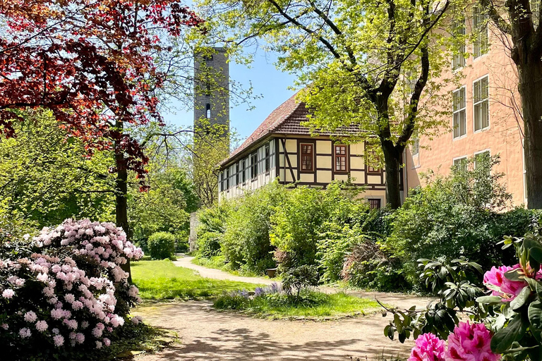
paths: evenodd
<path fill-rule="evenodd" d="M 363 185 L 361 195 L 380 208 L 385 205 L 383 169 L 366 164 L 363 142 L 342 144 L 356 132 L 355 127 L 344 134 L 323 133 L 311 136 L 303 121 L 308 110 L 291 97 L 258 126 L 243 144 L 219 165 L 219 199 L 242 195 L 246 190 L 271 183 L 309 185 L 326 188 L 332 181 L 350 181 Z"/>

